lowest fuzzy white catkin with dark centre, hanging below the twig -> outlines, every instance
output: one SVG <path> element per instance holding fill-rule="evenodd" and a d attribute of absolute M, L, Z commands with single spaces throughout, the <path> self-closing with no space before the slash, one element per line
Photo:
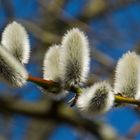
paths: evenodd
<path fill-rule="evenodd" d="M 110 110 L 114 103 L 114 94 L 106 81 L 95 83 L 86 88 L 77 100 L 77 108 L 87 115 L 98 115 Z"/>

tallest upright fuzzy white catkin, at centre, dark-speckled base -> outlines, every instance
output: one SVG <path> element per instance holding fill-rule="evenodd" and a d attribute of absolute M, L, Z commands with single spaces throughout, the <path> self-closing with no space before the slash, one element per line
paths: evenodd
<path fill-rule="evenodd" d="M 85 82 L 89 72 L 89 43 L 78 28 L 68 31 L 62 39 L 61 76 L 64 83 Z"/>

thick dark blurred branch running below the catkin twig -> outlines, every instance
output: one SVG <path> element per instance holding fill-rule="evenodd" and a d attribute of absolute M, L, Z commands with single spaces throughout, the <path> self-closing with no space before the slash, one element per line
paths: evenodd
<path fill-rule="evenodd" d="M 57 123 L 68 123 L 75 128 L 89 131 L 100 140 L 107 140 L 101 136 L 101 123 L 86 120 L 80 117 L 75 111 L 60 101 L 45 100 L 31 103 L 15 100 L 10 97 L 0 97 L 0 112 L 5 111 L 42 120 L 47 120 L 47 118 L 49 118 Z"/>

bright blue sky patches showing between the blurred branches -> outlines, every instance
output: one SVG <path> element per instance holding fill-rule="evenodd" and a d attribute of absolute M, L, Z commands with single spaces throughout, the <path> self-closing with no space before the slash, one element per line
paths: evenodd
<path fill-rule="evenodd" d="M 39 20 L 39 6 L 36 0 L 12 0 L 14 7 L 14 15 L 16 19 L 35 19 Z M 65 5 L 64 10 L 70 13 L 72 16 L 76 17 L 82 11 L 85 4 L 84 0 L 71 0 Z M 104 33 L 108 32 L 108 38 L 103 40 L 95 40 L 96 48 L 107 53 L 113 59 L 117 59 L 126 51 L 133 50 L 137 45 L 140 38 L 140 3 L 131 4 L 119 10 L 109 13 L 108 18 L 100 18 L 93 20 L 89 23 L 91 28 L 94 28 L 98 36 L 103 38 Z M 1 31 L 5 27 L 6 14 L 3 7 L 0 7 L 0 29 Z M 112 20 L 114 29 L 121 33 L 121 36 L 117 34 L 112 36 L 108 27 L 107 19 Z M 133 26 L 134 23 L 135 27 Z M 109 39 L 114 41 L 110 42 Z M 31 40 L 31 43 L 33 41 Z M 33 42 L 34 43 L 34 42 Z M 93 40 L 94 43 L 94 40 Z M 33 75 L 38 75 L 38 66 L 35 64 L 30 64 L 28 69 Z M 41 66 L 40 66 L 41 68 Z M 29 94 L 24 94 L 28 90 L 32 89 Z M 33 84 L 29 84 L 28 87 L 22 90 L 17 90 L 22 94 L 22 98 L 25 100 L 36 101 L 40 96 L 40 90 Z M 109 122 L 119 134 L 124 135 L 128 130 L 137 122 L 139 122 L 139 116 L 130 108 L 118 108 L 113 109 L 107 113 L 104 120 Z M 14 125 L 12 129 L 11 140 L 19 140 L 26 132 L 26 127 L 28 119 L 20 115 L 15 116 Z M 139 139 L 140 137 L 137 137 Z M 58 127 L 54 133 L 51 135 L 50 140 L 76 140 L 77 135 L 74 130 L 68 125 L 61 125 Z"/>

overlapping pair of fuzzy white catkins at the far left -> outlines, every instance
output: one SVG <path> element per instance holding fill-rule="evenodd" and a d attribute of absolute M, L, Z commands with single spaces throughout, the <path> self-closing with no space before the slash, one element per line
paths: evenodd
<path fill-rule="evenodd" d="M 25 85 L 28 72 L 24 64 L 30 54 L 28 35 L 24 27 L 12 22 L 2 33 L 0 45 L 0 79 L 9 85 L 21 87 Z"/>

